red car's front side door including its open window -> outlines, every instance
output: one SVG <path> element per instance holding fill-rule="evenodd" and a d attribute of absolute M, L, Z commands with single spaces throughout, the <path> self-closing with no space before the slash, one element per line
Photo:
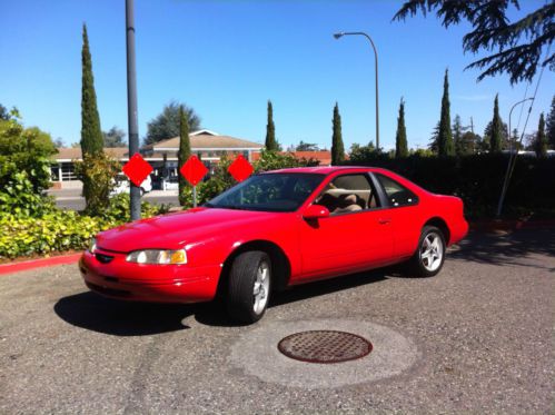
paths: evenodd
<path fill-rule="evenodd" d="M 366 172 L 331 178 L 313 204 L 325 206 L 330 215 L 300 223 L 303 279 L 354 273 L 390 260 L 389 221 Z"/>

